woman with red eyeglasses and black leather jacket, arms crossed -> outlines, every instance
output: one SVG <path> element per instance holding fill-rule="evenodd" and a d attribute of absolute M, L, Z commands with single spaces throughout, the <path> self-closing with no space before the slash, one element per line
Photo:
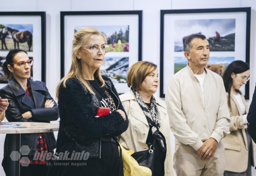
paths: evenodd
<path fill-rule="evenodd" d="M 59 110 L 44 82 L 32 81 L 30 69 L 33 59 L 28 58 L 27 52 L 20 49 L 11 50 L 3 64 L 3 71 L 8 84 L 0 90 L 0 97 L 8 99 L 9 106 L 5 116 L 9 122 L 44 122 L 57 120 Z M 4 141 L 4 159 L 2 165 L 6 173 L 8 134 Z M 20 145 L 28 145 L 29 162 L 27 167 L 20 165 L 20 176 L 47 175 L 48 167 L 45 160 L 33 160 L 36 151 L 52 152 L 56 148 L 53 132 L 21 134 Z"/>

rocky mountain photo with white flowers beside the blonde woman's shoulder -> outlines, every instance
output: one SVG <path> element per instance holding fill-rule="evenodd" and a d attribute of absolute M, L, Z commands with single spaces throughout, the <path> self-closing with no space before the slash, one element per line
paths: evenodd
<path fill-rule="evenodd" d="M 127 83 L 129 57 L 105 57 L 100 67 L 101 74 L 108 76 L 112 82 Z"/>

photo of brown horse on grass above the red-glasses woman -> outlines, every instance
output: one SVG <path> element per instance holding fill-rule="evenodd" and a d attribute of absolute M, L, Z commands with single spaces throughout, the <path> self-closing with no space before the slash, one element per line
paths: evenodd
<path fill-rule="evenodd" d="M 1 50 L 9 51 L 18 49 L 33 51 L 33 25 L 0 24 Z M 4 27 L 4 28 L 3 28 Z M 5 46 L 5 49 L 4 49 Z"/>

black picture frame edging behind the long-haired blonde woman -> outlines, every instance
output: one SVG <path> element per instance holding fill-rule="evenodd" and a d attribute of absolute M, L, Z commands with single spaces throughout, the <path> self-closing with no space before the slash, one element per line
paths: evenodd
<path fill-rule="evenodd" d="M 97 17 L 98 15 L 138 15 L 138 56 L 136 61 L 142 58 L 142 11 L 86 11 L 86 12 L 70 12 L 64 11 L 60 12 L 60 77 L 65 75 L 65 17 L 66 16 L 88 16 L 93 15 Z M 135 57 L 134 57 L 135 60 Z M 116 84 L 115 84 L 116 85 Z M 124 93 L 124 92 L 119 92 Z"/>

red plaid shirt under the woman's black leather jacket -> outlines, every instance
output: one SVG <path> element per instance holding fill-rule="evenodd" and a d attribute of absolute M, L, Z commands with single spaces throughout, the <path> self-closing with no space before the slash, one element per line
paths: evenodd
<path fill-rule="evenodd" d="M 31 87 L 30 87 L 29 83 L 27 83 L 27 87 L 28 87 L 28 89 L 27 89 L 26 93 L 33 100 L 33 95 L 32 95 L 32 91 L 31 91 Z M 33 155 L 28 155 L 27 157 L 30 160 L 29 164 L 46 164 L 45 160 L 42 161 L 44 153 L 46 153 L 46 155 L 48 154 L 47 142 L 46 142 L 46 140 L 44 138 L 44 134 L 43 133 L 39 133 L 38 134 L 36 150 L 40 151 L 40 152 L 38 152 L 38 154 L 40 153 L 40 157 L 39 157 L 38 160 L 33 160 L 34 156 Z M 44 151 L 44 152 L 41 152 L 41 151 Z M 20 163 L 27 163 L 27 162 L 25 160 L 20 160 Z"/>

